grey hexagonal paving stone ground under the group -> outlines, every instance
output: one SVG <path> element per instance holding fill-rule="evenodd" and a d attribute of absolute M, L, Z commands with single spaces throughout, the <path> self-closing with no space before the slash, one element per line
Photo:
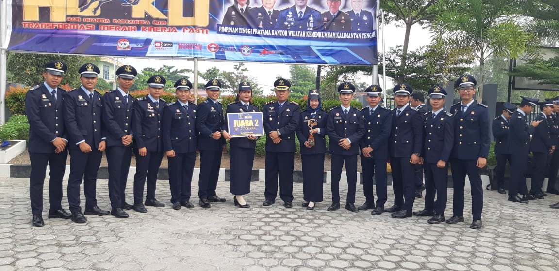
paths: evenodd
<path fill-rule="evenodd" d="M 103 209 L 110 206 L 106 183 L 99 180 L 97 186 Z M 429 225 L 428 217 L 353 214 L 343 207 L 328 212 L 329 183 L 325 202 L 315 210 L 300 206 L 301 183 L 294 185 L 292 209 L 279 199 L 263 207 L 263 182 L 253 183 L 245 197 L 250 209 L 234 207 L 229 183 L 220 182 L 218 195 L 228 201 L 211 209 L 177 211 L 168 203 L 147 206 L 146 214 L 127 210 L 128 219 L 87 216 L 86 224 L 75 224 L 46 218 L 45 190 L 45 226 L 33 228 L 27 186 L 25 178 L 0 178 L 0 271 L 559 270 L 559 210 L 548 207 L 559 201 L 556 195 L 523 205 L 485 191 L 484 228 L 472 230 L 468 192 L 466 222 L 454 225 Z M 131 188 L 130 181 L 128 202 Z M 341 188 L 344 195 L 347 186 Z M 168 183 L 160 182 L 158 199 L 168 202 L 168 191 Z M 356 204 L 361 204 L 362 186 L 357 195 Z M 386 207 L 393 195 L 389 191 Z M 452 198 L 448 202 L 447 218 Z M 65 200 L 63 206 L 68 206 Z M 423 199 L 416 200 L 414 211 L 422 207 Z"/>

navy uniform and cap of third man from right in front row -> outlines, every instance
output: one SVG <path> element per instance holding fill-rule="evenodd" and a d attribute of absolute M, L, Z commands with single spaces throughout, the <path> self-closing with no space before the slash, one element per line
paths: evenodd
<path fill-rule="evenodd" d="M 413 89 L 402 83 L 392 90 L 394 95 L 410 95 Z M 423 148 L 423 115 L 409 104 L 392 110 L 392 129 L 389 139 L 390 166 L 392 168 L 392 189 L 394 206 L 386 209 L 393 212 L 392 217 L 411 217 L 415 201 L 414 165 L 410 162 L 413 155 L 420 157 Z"/>

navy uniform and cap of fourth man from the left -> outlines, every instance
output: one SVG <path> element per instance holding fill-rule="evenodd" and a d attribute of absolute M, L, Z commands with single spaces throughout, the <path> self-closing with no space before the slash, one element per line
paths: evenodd
<path fill-rule="evenodd" d="M 161 75 L 153 75 L 148 81 L 150 88 L 160 89 L 167 83 Z M 134 210 L 136 212 L 148 212 L 145 205 L 164 207 L 163 202 L 155 199 L 155 187 L 157 187 L 157 176 L 159 166 L 163 159 L 163 134 L 162 114 L 167 101 L 155 98 L 151 94 L 139 97 L 134 103 L 134 118 L 132 118 L 132 132 L 136 135 L 132 142 L 132 149 L 136 157 L 136 174 L 134 175 Z M 140 154 L 140 149 L 145 148 L 145 155 Z M 147 193 L 144 201 L 144 186 Z"/>

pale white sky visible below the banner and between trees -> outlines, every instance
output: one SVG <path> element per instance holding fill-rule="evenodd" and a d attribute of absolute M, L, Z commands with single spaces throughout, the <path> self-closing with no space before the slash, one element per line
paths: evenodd
<path fill-rule="evenodd" d="M 391 47 L 395 47 L 398 45 L 402 45 L 404 43 L 404 33 L 405 28 L 403 27 L 396 27 L 394 25 L 386 26 L 386 41 L 385 41 L 385 48 L 388 51 Z M 430 41 L 429 31 L 424 30 L 420 26 L 414 26 L 411 29 L 410 34 L 410 44 L 409 44 L 409 51 L 418 49 L 421 46 L 428 45 Z M 379 33 L 378 36 L 378 51 L 382 51 L 382 33 Z M 122 64 L 132 65 L 136 68 L 136 70 L 140 71 L 145 67 L 153 67 L 154 69 L 158 69 L 163 65 L 168 66 L 175 66 L 178 69 L 194 69 L 194 62 L 187 61 L 187 60 L 160 60 L 160 59 L 145 59 L 145 58 L 134 58 L 134 57 L 119 57 L 118 60 Z M 382 61 L 382 59 L 379 59 Z M 205 71 L 211 67 L 218 67 L 220 70 L 228 70 L 233 71 L 233 66 L 238 64 L 238 61 L 234 62 L 216 62 L 216 61 L 198 61 L 198 71 Z M 264 63 L 257 63 L 257 62 L 245 62 L 245 67 L 247 67 L 248 74 L 257 78 L 258 85 L 262 86 L 263 89 L 271 89 L 273 88 L 273 82 L 276 80 L 277 76 L 283 76 L 284 78 L 289 78 L 289 65 L 288 64 L 264 64 Z M 382 70 L 378 71 L 379 74 L 382 75 Z M 193 78 L 193 74 L 187 74 L 190 78 Z M 199 79 L 203 80 L 203 79 Z M 383 86 L 382 76 L 381 81 L 379 82 L 381 86 Z M 367 82 L 372 84 L 372 77 L 371 76 L 362 76 L 359 79 L 359 82 Z M 201 81 L 199 83 L 202 83 Z M 387 90 L 392 89 L 392 81 L 386 82 Z M 264 93 L 265 95 L 268 93 Z"/>

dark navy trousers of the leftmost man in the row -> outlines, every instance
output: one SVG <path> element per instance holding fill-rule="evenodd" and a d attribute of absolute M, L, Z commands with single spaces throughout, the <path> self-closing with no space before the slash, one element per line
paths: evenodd
<path fill-rule="evenodd" d="M 50 210 L 62 209 L 62 178 L 66 169 L 68 151 L 61 153 L 29 153 L 31 161 L 31 175 L 29 177 L 29 198 L 31 200 L 31 214 L 42 214 L 42 188 L 45 185 L 46 165 L 49 173 L 49 201 Z"/>

